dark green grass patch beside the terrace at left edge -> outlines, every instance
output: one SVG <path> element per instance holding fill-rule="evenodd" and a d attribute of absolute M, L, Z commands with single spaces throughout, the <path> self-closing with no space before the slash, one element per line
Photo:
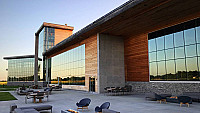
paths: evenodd
<path fill-rule="evenodd" d="M 9 92 L 0 92 L 0 101 L 9 101 L 9 100 L 17 100 L 17 99 Z"/>

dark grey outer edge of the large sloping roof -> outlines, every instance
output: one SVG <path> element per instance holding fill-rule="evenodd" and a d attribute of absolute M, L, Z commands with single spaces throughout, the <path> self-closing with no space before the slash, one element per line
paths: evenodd
<path fill-rule="evenodd" d="M 131 7 L 136 6 L 137 4 L 143 2 L 144 0 L 130 0 L 123 5 L 119 6 L 118 8 L 112 10 L 111 12 L 107 13 L 106 15 L 102 16 L 101 18 L 97 19 L 96 21 L 92 22 L 91 24 L 87 25 L 83 29 L 79 30 L 78 32 L 74 33 L 70 37 L 66 38 L 65 40 L 61 41 L 54 47 L 48 49 L 46 52 L 43 53 L 44 56 L 48 56 L 51 54 L 53 51 L 59 50 L 59 49 L 64 49 L 66 46 L 73 45 L 81 40 L 84 40 L 89 36 L 89 34 L 85 37 L 84 34 L 87 34 L 89 32 L 97 32 L 98 30 L 97 27 L 101 27 L 103 23 L 111 20 L 115 16 L 121 14 L 122 12 L 125 12 Z M 42 27 L 42 26 L 41 26 Z M 95 31 L 93 31 L 95 29 Z M 90 33 L 93 34 L 93 33 Z M 83 35 L 83 36 L 82 36 Z"/>

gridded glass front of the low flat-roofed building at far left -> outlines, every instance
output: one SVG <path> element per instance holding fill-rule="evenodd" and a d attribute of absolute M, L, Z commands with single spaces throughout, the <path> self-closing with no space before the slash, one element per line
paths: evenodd
<path fill-rule="evenodd" d="M 8 81 L 34 81 L 34 62 L 34 58 L 9 59 Z M 38 79 L 40 80 L 40 65 L 38 67 Z"/>

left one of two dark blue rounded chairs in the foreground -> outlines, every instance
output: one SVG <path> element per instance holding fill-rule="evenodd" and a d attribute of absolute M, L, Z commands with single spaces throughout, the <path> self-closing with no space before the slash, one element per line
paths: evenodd
<path fill-rule="evenodd" d="M 90 102 L 91 100 L 89 98 L 84 98 L 82 100 L 80 100 L 80 102 L 77 102 L 76 105 L 77 105 L 77 110 L 78 109 L 88 109 L 88 106 L 90 105 Z"/>

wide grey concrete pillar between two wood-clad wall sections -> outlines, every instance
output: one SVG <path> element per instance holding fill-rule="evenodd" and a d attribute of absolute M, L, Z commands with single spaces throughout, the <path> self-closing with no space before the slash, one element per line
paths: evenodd
<path fill-rule="evenodd" d="M 125 86 L 123 37 L 98 34 L 97 41 L 98 92 Z"/>

